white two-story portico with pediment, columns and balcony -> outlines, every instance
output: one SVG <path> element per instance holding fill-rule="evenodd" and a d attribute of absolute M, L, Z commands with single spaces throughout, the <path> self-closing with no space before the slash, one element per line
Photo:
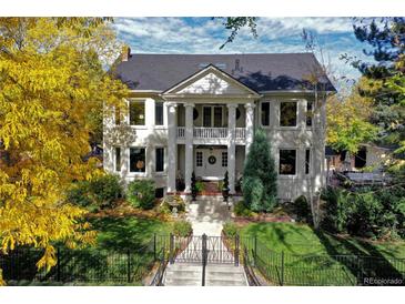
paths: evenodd
<path fill-rule="evenodd" d="M 168 107 L 168 192 L 175 191 L 179 175 L 190 193 L 192 172 L 217 181 L 227 171 L 230 193 L 234 194 L 241 171 L 236 170 L 236 146 L 244 153 L 250 149 L 260 94 L 209 65 L 163 92 L 162 98 Z"/>

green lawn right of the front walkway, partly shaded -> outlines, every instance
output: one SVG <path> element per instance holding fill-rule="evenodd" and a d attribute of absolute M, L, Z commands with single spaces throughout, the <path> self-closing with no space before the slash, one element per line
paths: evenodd
<path fill-rule="evenodd" d="M 241 230 L 241 240 L 251 250 L 255 235 L 257 267 L 274 284 L 352 285 L 358 277 L 405 274 L 405 261 L 393 260 L 405 259 L 404 242 L 338 237 L 295 223 L 253 223 Z"/>

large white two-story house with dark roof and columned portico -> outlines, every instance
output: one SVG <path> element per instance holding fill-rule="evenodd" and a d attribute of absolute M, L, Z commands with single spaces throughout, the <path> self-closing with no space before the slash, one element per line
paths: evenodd
<path fill-rule="evenodd" d="M 313 112 L 315 94 L 306 81 L 320 70 L 311 53 L 124 52 L 115 73 L 132 98 L 121 125 L 113 116 L 104 120 L 104 169 L 126 183 L 153 179 L 164 193 L 176 191 L 176 179 L 190 192 L 193 171 L 207 181 L 227 171 L 235 193 L 261 126 L 272 145 L 280 199 L 310 195 L 325 185 L 325 104 Z M 335 92 L 326 78 L 320 82 Z M 122 124 L 129 135 L 119 140 Z"/>

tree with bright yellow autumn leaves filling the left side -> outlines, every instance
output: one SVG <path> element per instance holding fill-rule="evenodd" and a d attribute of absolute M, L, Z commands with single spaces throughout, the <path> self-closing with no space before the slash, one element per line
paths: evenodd
<path fill-rule="evenodd" d="M 53 242 L 94 240 L 84 211 L 63 193 L 97 174 L 95 160 L 83 162 L 94 112 L 124 107 L 126 87 L 107 72 L 121 50 L 109 23 L 0 18 L 1 251 L 41 247 L 39 267 L 54 265 Z"/>

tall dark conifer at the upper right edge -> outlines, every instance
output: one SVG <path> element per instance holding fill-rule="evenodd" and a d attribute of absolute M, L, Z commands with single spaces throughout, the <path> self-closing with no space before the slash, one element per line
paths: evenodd
<path fill-rule="evenodd" d="M 364 53 L 374 61 L 361 61 L 347 54 L 343 58 L 364 75 L 366 83 L 361 93 L 373 100 L 371 123 L 382 129 L 377 140 L 397 148 L 394 163 L 405 171 L 402 154 L 405 151 L 405 18 L 355 19 L 354 33 L 367 43 Z"/>

